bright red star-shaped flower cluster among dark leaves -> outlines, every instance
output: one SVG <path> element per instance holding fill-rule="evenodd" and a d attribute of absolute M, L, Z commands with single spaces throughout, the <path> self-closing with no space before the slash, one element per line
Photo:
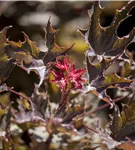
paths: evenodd
<path fill-rule="evenodd" d="M 63 60 L 60 57 L 57 58 L 54 66 L 58 68 L 59 71 L 51 71 L 55 77 L 52 82 L 58 83 L 62 91 L 66 91 L 70 83 L 73 83 L 73 88 L 75 89 L 82 88 L 82 82 L 84 82 L 82 75 L 84 74 L 85 69 L 76 69 L 75 64 L 71 64 L 67 56 L 65 56 Z"/>

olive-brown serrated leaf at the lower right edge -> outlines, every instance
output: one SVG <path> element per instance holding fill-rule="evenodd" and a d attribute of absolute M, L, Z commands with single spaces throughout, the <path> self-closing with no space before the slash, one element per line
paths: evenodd
<path fill-rule="evenodd" d="M 132 90 L 134 91 L 134 83 Z M 115 106 L 113 119 L 110 125 L 112 131 L 112 137 L 117 140 L 124 140 L 125 137 L 132 137 L 132 133 L 135 131 L 135 97 L 128 100 L 127 104 L 122 105 L 122 112 Z"/>

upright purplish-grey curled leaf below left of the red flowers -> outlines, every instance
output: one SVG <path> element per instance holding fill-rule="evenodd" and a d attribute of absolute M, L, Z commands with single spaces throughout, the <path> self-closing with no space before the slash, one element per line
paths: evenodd
<path fill-rule="evenodd" d="M 46 93 L 40 93 L 38 91 L 38 87 L 35 87 L 35 92 L 33 93 L 31 99 L 31 110 L 27 110 L 24 106 L 20 106 L 20 112 L 15 112 L 12 110 L 12 114 L 17 123 L 25 123 L 25 122 L 42 122 L 45 123 L 46 119 L 49 117 L 49 110 L 47 108 L 48 97 Z"/>

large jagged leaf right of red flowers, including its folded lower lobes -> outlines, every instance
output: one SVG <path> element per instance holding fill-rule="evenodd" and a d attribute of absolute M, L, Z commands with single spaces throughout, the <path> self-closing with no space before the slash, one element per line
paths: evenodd
<path fill-rule="evenodd" d="M 107 96 L 105 94 L 106 89 L 111 85 L 112 87 L 127 88 L 133 82 L 130 76 L 127 78 L 118 76 L 116 68 L 111 70 L 112 73 L 108 76 L 105 73 L 114 63 L 120 66 L 122 61 L 126 62 L 128 59 L 124 59 L 121 56 L 125 54 L 127 46 L 134 41 L 135 30 L 133 29 L 128 35 L 119 38 L 117 29 L 120 23 L 130 16 L 129 12 L 134 5 L 135 1 L 130 0 L 122 9 L 116 10 L 110 26 L 102 27 L 99 20 L 103 8 L 100 6 L 100 0 L 95 0 L 89 11 L 90 25 L 88 29 L 80 29 L 86 43 L 89 45 L 85 54 L 88 81 L 90 86 L 96 88 L 96 90 L 90 90 L 90 92 L 96 93 L 100 99 L 104 99 Z M 134 66 L 134 64 L 132 65 Z M 107 98 L 105 101 L 109 99 Z"/>

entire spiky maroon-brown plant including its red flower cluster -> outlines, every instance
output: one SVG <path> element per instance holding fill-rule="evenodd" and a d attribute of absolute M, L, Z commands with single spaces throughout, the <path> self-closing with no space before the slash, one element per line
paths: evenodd
<path fill-rule="evenodd" d="M 118 27 L 134 6 L 135 0 L 130 0 L 116 11 L 108 27 L 102 27 L 99 21 L 103 8 L 100 0 L 94 1 L 88 11 L 88 28 L 79 29 L 87 43 L 85 60 L 81 62 L 85 68 L 77 68 L 68 56 L 74 44 L 56 44 L 58 30 L 53 29 L 50 19 L 44 29 L 46 52 L 41 52 L 25 33 L 23 42 L 10 41 L 7 31 L 11 26 L 0 32 L 2 149 L 135 149 L 135 62 L 134 54 L 128 51 L 135 42 L 135 30 L 117 36 Z M 33 83 L 31 96 L 9 87 L 7 79 L 15 67 L 39 77 L 38 83 Z M 114 92 L 113 97 L 108 91 Z M 13 100 L 12 94 L 16 95 Z M 96 105 L 100 100 L 103 106 Z M 96 112 L 108 107 L 111 113 L 105 126 Z"/>

